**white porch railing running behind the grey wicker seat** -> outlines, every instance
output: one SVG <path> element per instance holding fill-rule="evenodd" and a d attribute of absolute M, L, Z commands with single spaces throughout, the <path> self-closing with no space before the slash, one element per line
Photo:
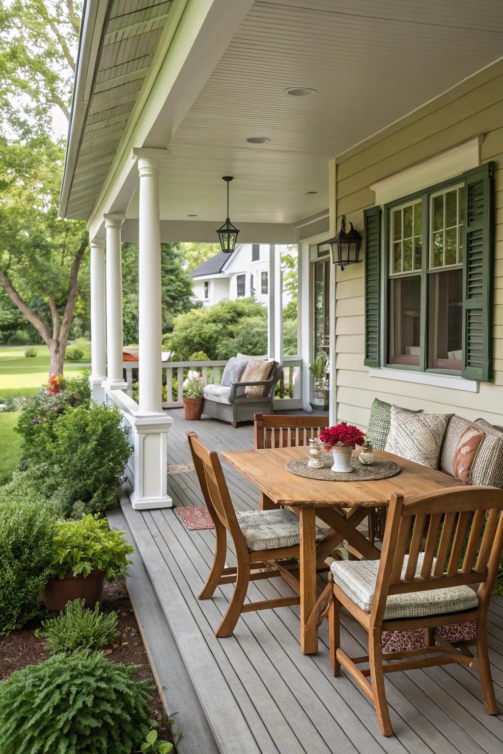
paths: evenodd
<path fill-rule="evenodd" d="M 220 382 L 222 372 L 227 362 L 222 361 L 163 361 L 163 402 L 164 409 L 176 409 L 183 405 L 183 381 L 189 371 L 200 372 L 207 384 Z M 127 395 L 133 397 L 134 370 L 138 364 L 134 361 L 124 361 L 126 372 Z M 134 401 L 133 401 L 134 403 Z M 136 404 L 135 404 L 136 405 Z M 296 356 L 285 356 L 281 380 L 278 382 L 275 394 L 275 409 L 302 408 L 302 359 Z"/>

